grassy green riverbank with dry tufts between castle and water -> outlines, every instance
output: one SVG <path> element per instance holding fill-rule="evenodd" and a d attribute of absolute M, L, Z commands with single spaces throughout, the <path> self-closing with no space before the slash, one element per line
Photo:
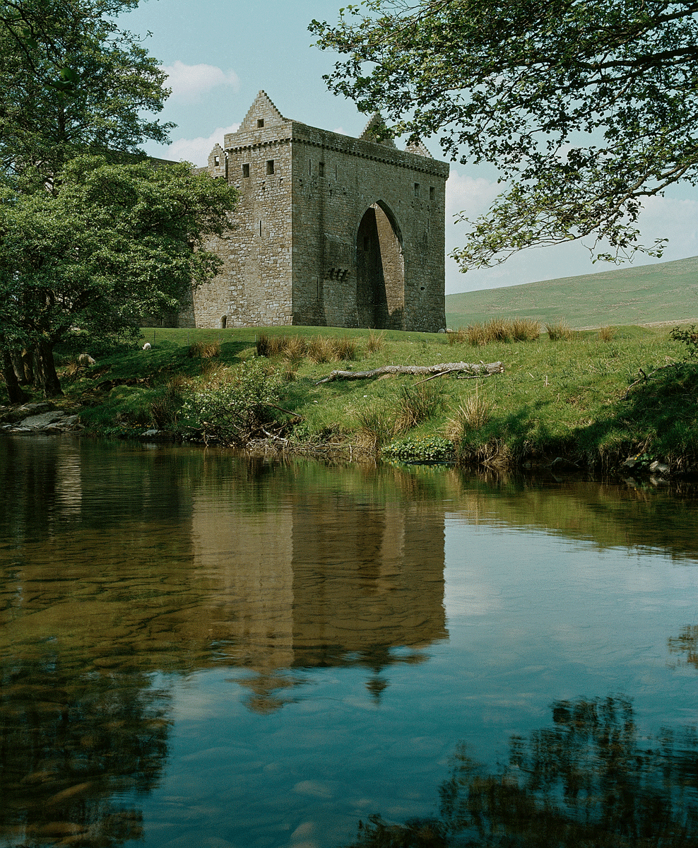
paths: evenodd
<path fill-rule="evenodd" d="M 685 344 L 666 329 L 639 326 L 559 336 L 480 337 L 473 345 L 466 333 L 147 328 L 152 349 L 103 356 L 91 367 L 65 361 L 61 374 L 87 430 L 107 435 L 157 429 L 241 446 L 455 458 L 464 466 L 561 457 L 610 468 L 632 456 L 639 468 L 655 460 L 672 471 L 698 468 L 698 365 L 683 361 Z M 335 368 L 481 360 L 501 361 L 505 372 L 318 383 Z M 249 399 L 256 405 L 248 414 Z M 237 418 L 221 424 L 230 410 Z"/>

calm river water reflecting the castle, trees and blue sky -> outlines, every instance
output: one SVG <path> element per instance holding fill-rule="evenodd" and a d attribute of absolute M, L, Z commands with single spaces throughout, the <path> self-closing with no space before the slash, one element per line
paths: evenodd
<path fill-rule="evenodd" d="M 53 438 L 0 479 L 0 845 L 695 837 L 692 494 Z"/>

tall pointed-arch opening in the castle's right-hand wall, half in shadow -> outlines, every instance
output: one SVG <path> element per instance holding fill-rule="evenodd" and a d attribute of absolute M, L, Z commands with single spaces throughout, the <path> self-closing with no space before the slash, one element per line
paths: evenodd
<path fill-rule="evenodd" d="M 378 201 L 366 209 L 356 235 L 359 326 L 400 330 L 405 311 L 405 260 L 394 216 Z"/>

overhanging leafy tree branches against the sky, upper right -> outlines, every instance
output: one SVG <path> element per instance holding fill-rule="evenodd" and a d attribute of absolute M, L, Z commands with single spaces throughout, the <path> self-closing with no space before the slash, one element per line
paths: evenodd
<path fill-rule="evenodd" d="M 666 239 L 645 246 L 635 225 L 645 198 L 698 180 L 696 13 L 691 0 L 364 0 L 310 30 L 344 56 L 333 92 L 383 110 L 394 135 L 441 133 L 451 159 L 500 169 L 505 192 L 455 250 L 466 271 L 584 237 L 594 259 L 662 255 Z"/>

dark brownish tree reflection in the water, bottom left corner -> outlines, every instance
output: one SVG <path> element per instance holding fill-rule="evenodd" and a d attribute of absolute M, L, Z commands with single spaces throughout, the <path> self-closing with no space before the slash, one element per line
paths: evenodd
<path fill-rule="evenodd" d="M 157 783 L 167 706 L 142 672 L 76 674 L 59 656 L 0 668 L 0 841 L 142 839 L 142 812 L 114 798 Z"/>

